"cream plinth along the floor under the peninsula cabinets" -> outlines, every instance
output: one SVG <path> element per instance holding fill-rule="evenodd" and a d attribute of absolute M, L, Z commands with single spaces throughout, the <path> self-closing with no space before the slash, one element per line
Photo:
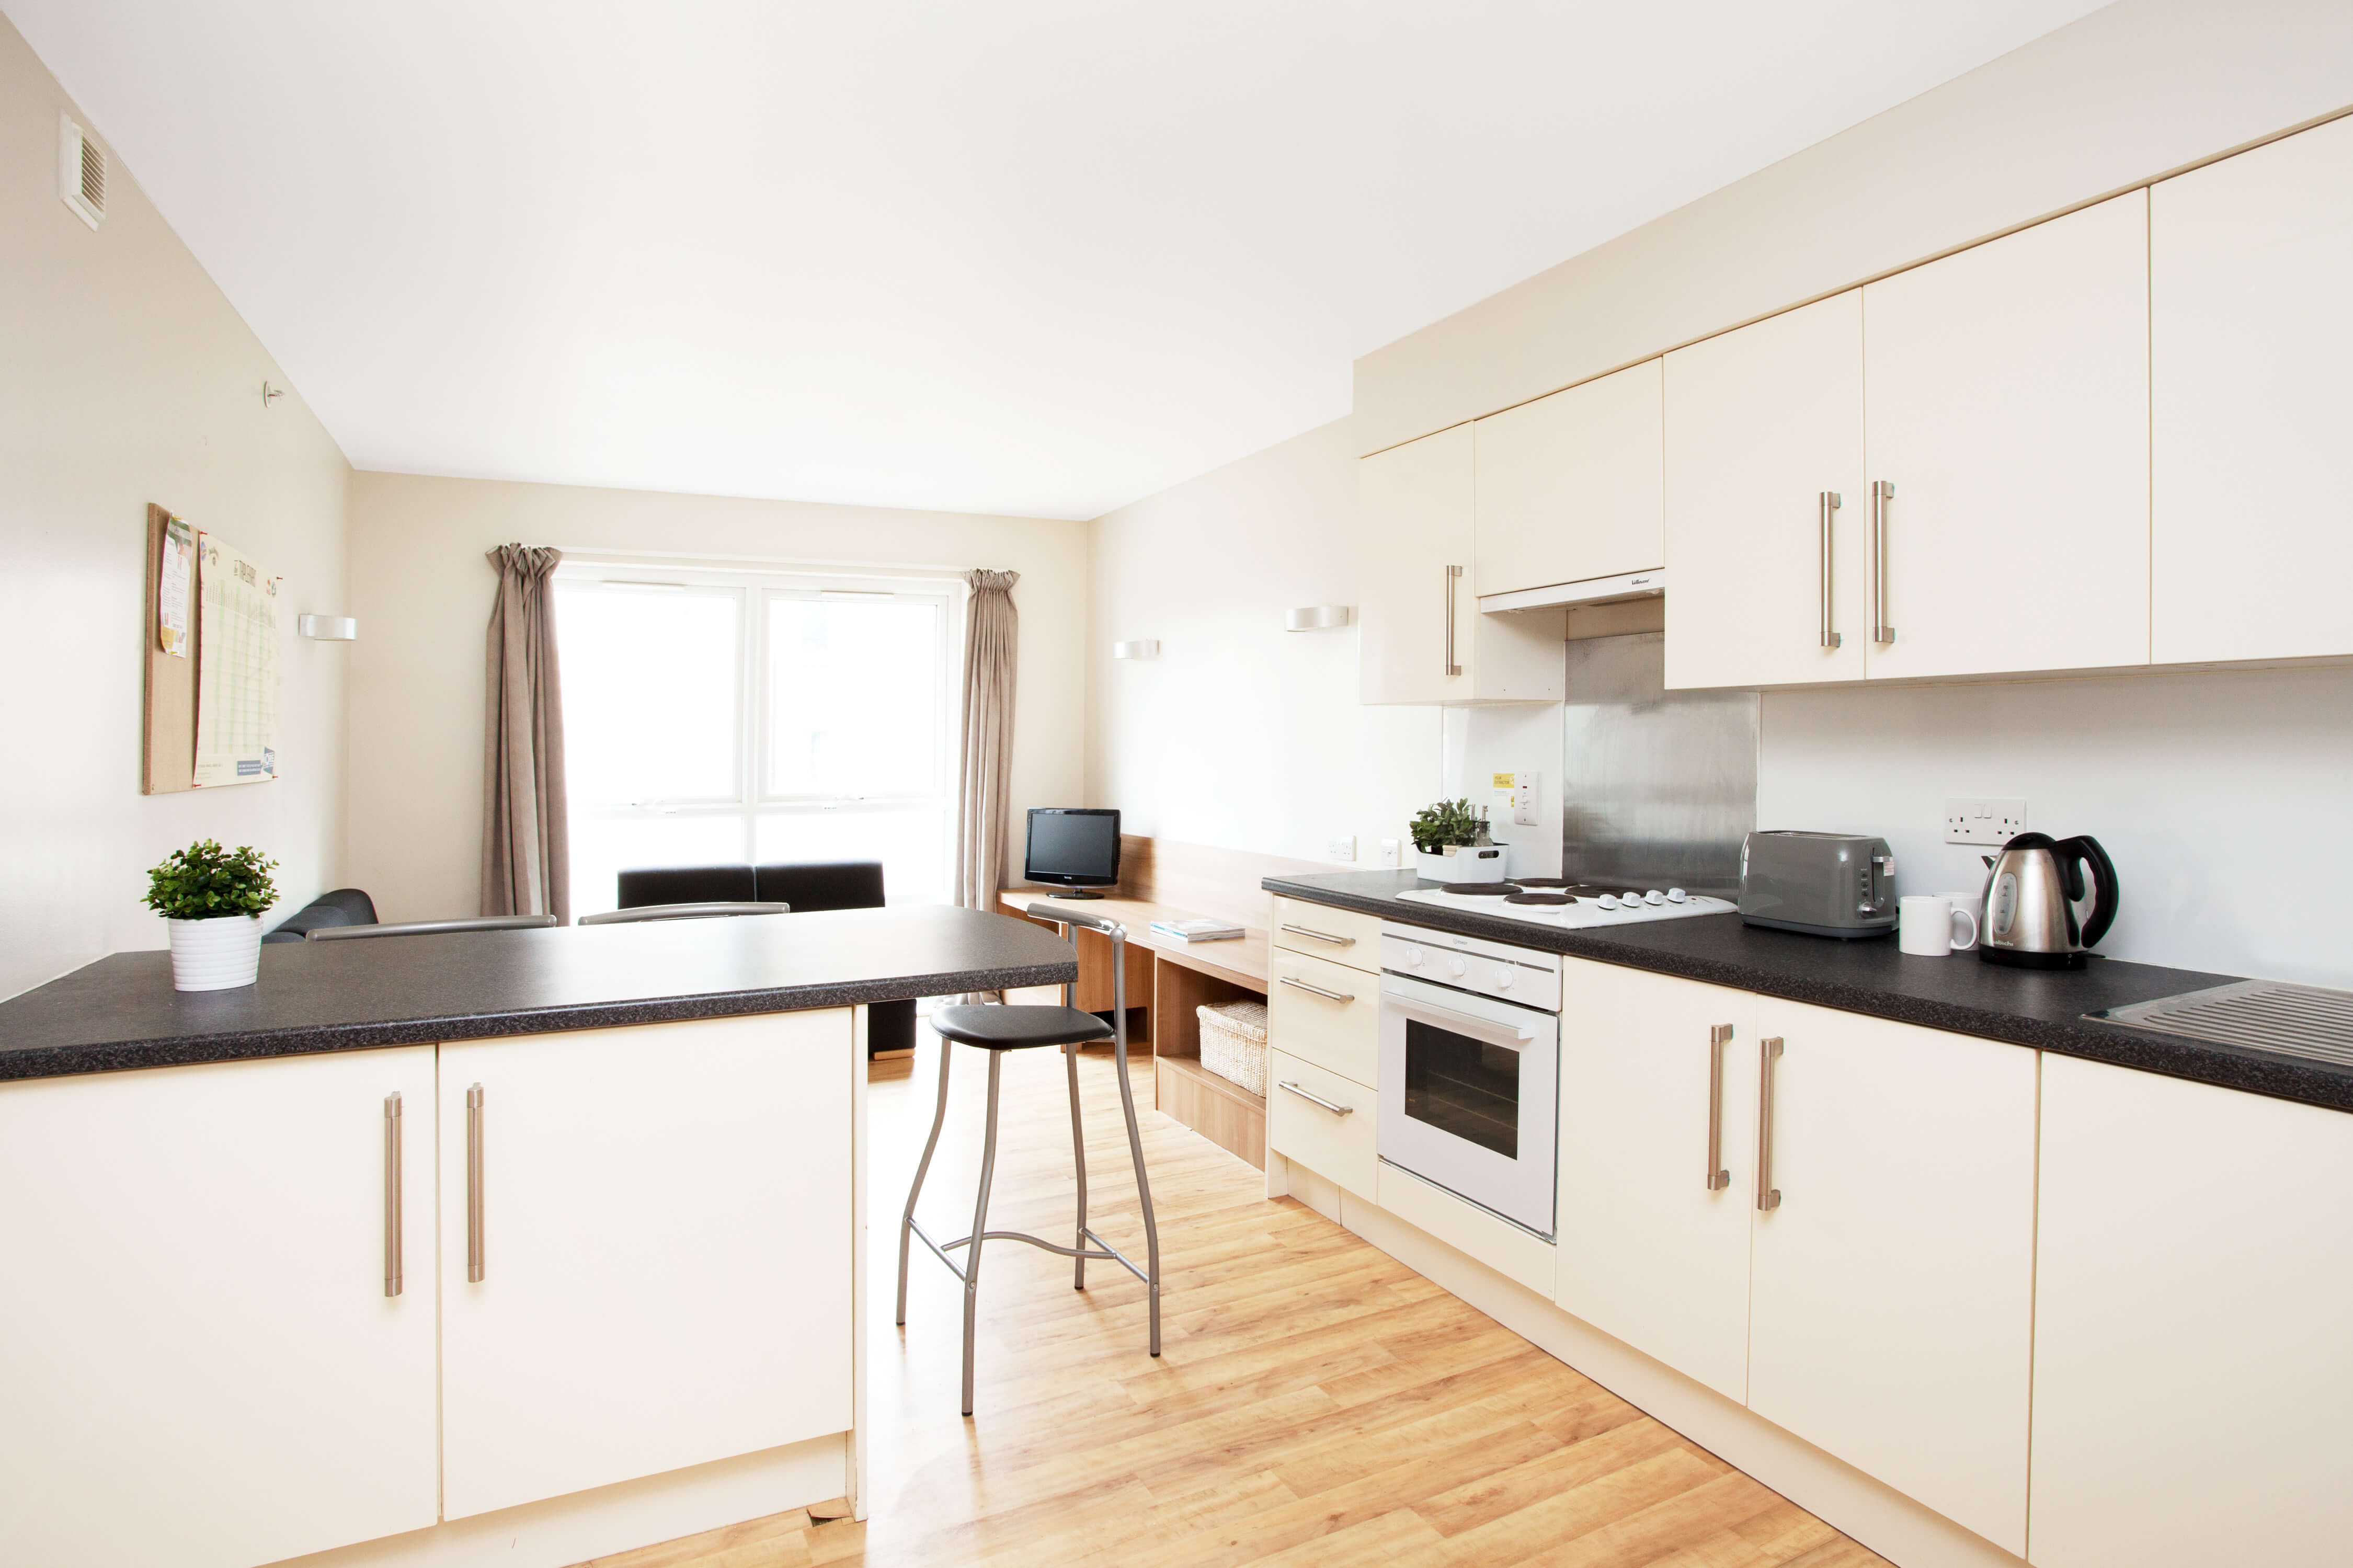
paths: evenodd
<path fill-rule="evenodd" d="M 275 1568 L 567 1568 L 849 1490 L 849 1434 L 713 1460 L 666 1476 L 452 1519 L 428 1530 L 292 1556 Z"/>

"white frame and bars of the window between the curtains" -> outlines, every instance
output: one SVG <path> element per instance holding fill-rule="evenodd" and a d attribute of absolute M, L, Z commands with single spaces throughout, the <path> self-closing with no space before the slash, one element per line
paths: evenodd
<path fill-rule="evenodd" d="M 816 812 L 896 812 L 911 805 L 936 805 L 941 822 L 939 864 L 944 885 L 941 902 L 953 902 L 953 850 L 955 850 L 955 758 L 960 704 L 955 692 L 965 662 L 965 605 L 972 591 L 960 577 L 932 572 L 892 572 L 875 567 L 826 570 L 814 565 L 784 563 L 685 563 L 659 556 L 593 556 L 565 553 L 555 567 L 558 589 L 612 586 L 633 593 L 732 593 L 736 598 L 736 789 L 727 798 L 649 798 L 649 800 L 584 800 L 574 796 L 567 805 L 574 819 L 591 822 L 645 822 L 659 817 L 736 817 L 741 819 L 739 850 L 744 864 L 758 862 L 760 822 L 769 817 L 798 817 Z M 939 607 L 939 659 L 934 669 L 934 758 L 936 775 L 929 789 L 889 791 L 873 796 L 798 796 L 769 791 L 769 638 L 767 605 L 772 598 L 892 598 L 932 603 Z M 558 610 L 560 614 L 560 610 Z M 899 895 L 892 892 L 892 902 Z"/>

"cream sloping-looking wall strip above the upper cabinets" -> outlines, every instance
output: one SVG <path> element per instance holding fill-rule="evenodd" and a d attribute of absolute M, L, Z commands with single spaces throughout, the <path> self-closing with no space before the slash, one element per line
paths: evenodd
<path fill-rule="evenodd" d="M 1355 450 L 2113 195 L 2353 104 L 2344 0 L 2120 0 L 1355 363 Z"/>

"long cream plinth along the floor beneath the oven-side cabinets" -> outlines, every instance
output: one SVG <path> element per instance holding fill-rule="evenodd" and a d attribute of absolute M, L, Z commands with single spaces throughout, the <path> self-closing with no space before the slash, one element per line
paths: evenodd
<path fill-rule="evenodd" d="M 1887 1561 L 1901 1563 L 1901 1568 L 2026 1568 L 2026 1559 L 2002 1552 L 1984 1535 L 1960 1528 L 1845 1460 L 1784 1431 L 1748 1406 L 1739 1406 L 1584 1318 L 1569 1316 L 1527 1285 L 1457 1253 L 1369 1198 L 1271 1154 L 1266 1158 L 1266 1196 L 1285 1194 L 1362 1236 L 1414 1274 L 1485 1311 L 1555 1361 L 1577 1368 Z"/>

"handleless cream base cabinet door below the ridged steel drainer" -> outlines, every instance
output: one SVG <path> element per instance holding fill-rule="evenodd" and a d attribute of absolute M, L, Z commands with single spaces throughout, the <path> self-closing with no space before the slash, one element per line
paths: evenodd
<path fill-rule="evenodd" d="M 2353 1116 L 2042 1059 L 2038 1568 L 2346 1561 Z"/>

